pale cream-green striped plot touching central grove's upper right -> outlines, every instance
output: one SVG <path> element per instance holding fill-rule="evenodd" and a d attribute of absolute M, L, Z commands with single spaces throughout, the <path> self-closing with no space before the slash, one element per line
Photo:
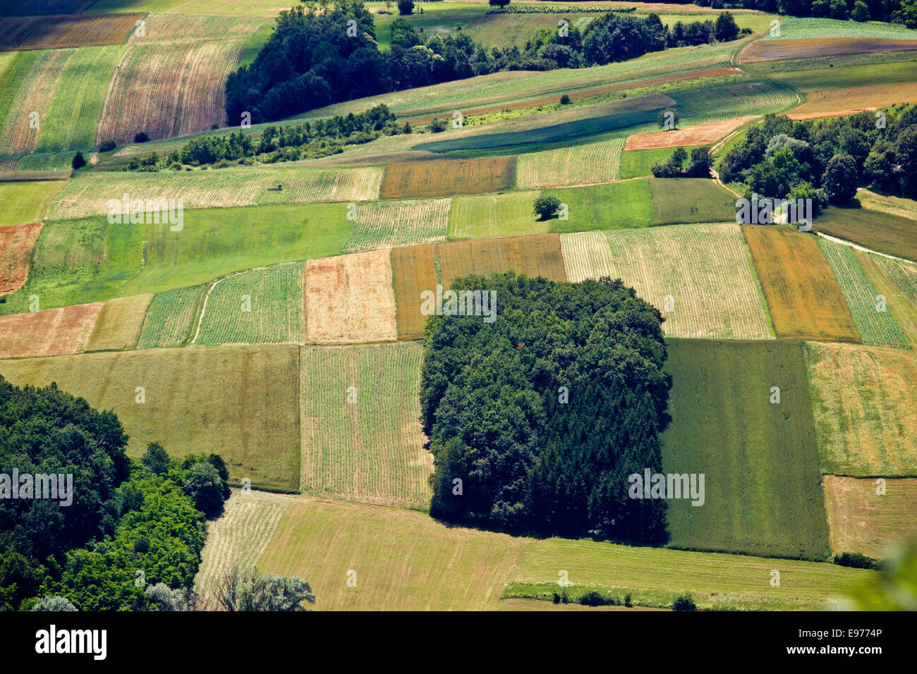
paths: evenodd
<path fill-rule="evenodd" d="M 662 312 L 668 337 L 773 337 L 734 224 L 564 234 L 560 243 L 569 281 L 620 278 Z"/>

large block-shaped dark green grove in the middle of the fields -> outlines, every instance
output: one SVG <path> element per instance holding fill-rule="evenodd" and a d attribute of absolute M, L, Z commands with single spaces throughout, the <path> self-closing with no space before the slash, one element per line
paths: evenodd
<path fill-rule="evenodd" d="M 670 381 L 658 310 L 620 281 L 470 276 L 496 317 L 428 319 L 421 412 L 436 517 L 518 532 L 666 540 L 665 505 L 628 498 L 661 468 Z M 444 312 L 449 311 L 444 295 Z"/>

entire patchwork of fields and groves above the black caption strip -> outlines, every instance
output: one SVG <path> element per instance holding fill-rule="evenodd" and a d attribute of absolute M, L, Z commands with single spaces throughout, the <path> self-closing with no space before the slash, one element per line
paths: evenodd
<path fill-rule="evenodd" d="M 910 606 L 889 2 L 0 0 L 0 463 L 96 485 L 83 541 L 0 498 L 0 614 Z M 750 193 L 817 197 L 815 231 L 736 224 Z M 427 322 L 493 273 L 493 323 Z M 646 468 L 702 492 L 631 501 Z M 233 599 L 253 566 L 298 578 Z"/>

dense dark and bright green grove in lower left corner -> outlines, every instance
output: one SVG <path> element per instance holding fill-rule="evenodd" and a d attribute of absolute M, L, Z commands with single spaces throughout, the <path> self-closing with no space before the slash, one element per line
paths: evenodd
<path fill-rule="evenodd" d="M 226 465 L 170 459 L 156 443 L 136 461 L 125 447 L 114 413 L 0 377 L 0 473 L 72 475 L 70 504 L 0 485 L 0 609 L 147 609 L 149 585 L 192 587 L 204 518 L 228 496 Z"/>

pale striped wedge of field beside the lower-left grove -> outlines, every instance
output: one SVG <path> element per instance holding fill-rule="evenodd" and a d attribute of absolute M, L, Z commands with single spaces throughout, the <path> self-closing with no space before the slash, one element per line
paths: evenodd
<path fill-rule="evenodd" d="M 233 490 L 219 518 L 207 523 L 207 543 L 194 590 L 214 602 L 214 583 L 233 567 L 255 566 L 282 515 L 298 497 L 288 494 Z"/>

